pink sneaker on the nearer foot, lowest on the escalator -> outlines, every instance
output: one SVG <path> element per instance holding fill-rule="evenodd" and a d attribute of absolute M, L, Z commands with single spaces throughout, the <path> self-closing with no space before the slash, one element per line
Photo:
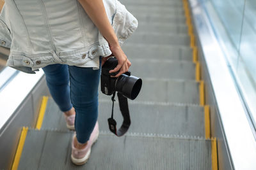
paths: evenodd
<path fill-rule="evenodd" d="M 72 147 L 71 160 L 74 164 L 81 166 L 87 162 L 87 160 L 90 157 L 92 145 L 93 143 L 95 143 L 95 141 L 97 141 L 98 136 L 99 136 L 99 124 L 98 122 L 96 122 L 86 147 L 79 150 L 74 146 L 74 138 L 76 137 L 76 132 L 75 132 L 72 139 L 72 144 L 71 144 L 71 147 Z"/>

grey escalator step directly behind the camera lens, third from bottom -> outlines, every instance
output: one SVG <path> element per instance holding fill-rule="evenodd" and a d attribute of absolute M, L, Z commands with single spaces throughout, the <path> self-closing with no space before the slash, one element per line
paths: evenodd
<path fill-rule="evenodd" d="M 134 74 L 135 75 L 135 74 Z M 99 90 L 99 99 L 110 99 Z M 196 81 L 143 79 L 136 101 L 199 104 L 199 83 Z"/>

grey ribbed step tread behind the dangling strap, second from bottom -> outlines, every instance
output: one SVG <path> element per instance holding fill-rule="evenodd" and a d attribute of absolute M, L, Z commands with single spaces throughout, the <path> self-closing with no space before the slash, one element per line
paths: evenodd
<path fill-rule="evenodd" d="M 111 101 L 99 102 L 99 127 L 109 132 L 108 118 L 111 117 Z M 182 104 L 143 104 L 129 102 L 131 115 L 130 133 L 157 134 L 162 136 L 190 136 L 204 138 L 204 108 Z M 118 103 L 115 103 L 114 118 L 117 127 L 122 124 Z M 62 111 L 52 98 L 47 102 L 41 129 L 68 131 Z"/>

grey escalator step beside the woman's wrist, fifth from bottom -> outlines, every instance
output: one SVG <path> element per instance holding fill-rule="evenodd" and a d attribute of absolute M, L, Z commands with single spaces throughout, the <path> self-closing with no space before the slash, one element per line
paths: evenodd
<path fill-rule="evenodd" d="M 169 59 L 169 60 L 189 60 L 192 61 L 192 49 L 188 46 L 171 45 L 136 45 L 125 43 L 122 46 L 128 59 Z"/>

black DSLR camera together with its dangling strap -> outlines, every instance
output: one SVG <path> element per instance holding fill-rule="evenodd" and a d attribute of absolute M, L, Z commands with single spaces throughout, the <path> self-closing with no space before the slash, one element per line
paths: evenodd
<path fill-rule="evenodd" d="M 117 73 L 109 73 L 111 69 L 115 69 L 118 64 L 118 60 L 115 57 L 110 57 L 102 66 L 100 76 L 100 86 L 103 94 L 112 95 L 112 115 L 108 118 L 109 130 L 116 136 L 123 136 L 128 131 L 131 125 L 130 113 L 128 108 L 129 99 L 135 99 L 140 93 L 142 80 L 136 76 L 131 76 L 131 72 L 121 74 L 118 78 L 111 77 Z M 113 118 L 115 94 L 117 93 L 120 111 L 124 118 L 123 124 L 120 129 L 116 129 L 116 121 Z"/>

